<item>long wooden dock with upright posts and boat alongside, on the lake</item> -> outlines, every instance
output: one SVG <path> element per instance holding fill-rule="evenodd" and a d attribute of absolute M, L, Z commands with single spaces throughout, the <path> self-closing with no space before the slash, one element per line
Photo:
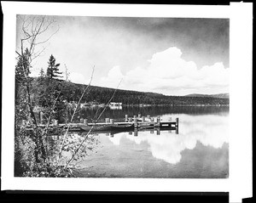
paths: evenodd
<path fill-rule="evenodd" d="M 39 127 L 45 127 L 44 124 L 38 125 Z M 121 133 L 121 132 L 134 132 L 137 136 L 139 131 L 153 131 L 160 134 L 160 131 L 176 131 L 178 133 L 178 118 L 172 121 L 162 121 L 160 116 L 157 117 L 147 117 L 138 116 L 128 117 L 125 115 L 125 121 L 113 121 L 113 119 L 106 118 L 105 122 L 92 122 L 89 123 L 87 119 L 80 119 L 79 123 L 68 123 L 59 124 L 57 120 L 54 124 L 50 125 L 52 133 L 60 133 L 61 130 L 65 130 L 69 127 L 70 132 L 93 132 L 93 133 Z M 111 136 L 111 134 L 110 134 Z"/>

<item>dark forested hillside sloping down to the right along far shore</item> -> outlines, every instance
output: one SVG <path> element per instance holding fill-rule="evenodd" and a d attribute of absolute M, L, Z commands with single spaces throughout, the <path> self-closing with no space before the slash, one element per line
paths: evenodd
<path fill-rule="evenodd" d="M 33 78 L 33 87 L 38 87 L 38 83 L 47 83 L 48 78 L 38 77 Z M 56 82 L 59 80 L 56 80 Z M 73 82 L 64 82 L 62 90 L 62 99 L 67 102 L 78 102 L 84 90 L 84 85 L 75 84 Z M 42 86 L 41 86 L 42 87 Z M 85 86 L 86 87 L 86 86 Z M 44 85 L 43 85 L 44 89 Z M 88 93 L 84 95 L 81 103 L 95 102 L 96 104 L 107 104 L 108 99 L 111 98 L 115 89 L 107 87 L 90 86 Z M 40 91 L 35 91 L 36 93 Z M 143 93 L 130 90 L 119 89 L 113 98 L 113 102 L 119 102 L 125 105 L 136 104 L 151 104 L 151 105 L 228 105 L 229 99 L 213 98 L 211 96 L 197 97 L 197 96 L 166 96 L 160 93 Z"/>

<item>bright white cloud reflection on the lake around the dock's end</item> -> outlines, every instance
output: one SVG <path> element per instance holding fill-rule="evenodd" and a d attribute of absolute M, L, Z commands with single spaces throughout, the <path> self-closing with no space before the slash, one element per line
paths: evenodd
<path fill-rule="evenodd" d="M 170 115 L 165 115 L 170 116 Z M 163 117 L 165 117 L 163 116 Z M 173 115 L 172 115 L 173 116 Z M 185 149 L 195 149 L 197 142 L 215 149 L 222 148 L 228 143 L 228 119 L 224 116 L 189 116 L 179 115 L 180 132 L 172 131 L 144 131 L 131 133 L 118 133 L 109 140 L 114 145 L 128 139 L 138 145 L 148 144 L 148 150 L 154 158 L 177 164 L 182 159 Z"/>

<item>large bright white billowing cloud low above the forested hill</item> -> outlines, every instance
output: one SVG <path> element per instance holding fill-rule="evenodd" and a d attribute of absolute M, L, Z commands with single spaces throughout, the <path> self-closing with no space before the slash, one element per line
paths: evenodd
<path fill-rule="evenodd" d="M 153 54 L 148 66 L 135 67 L 125 74 L 121 73 L 119 66 L 114 66 L 108 76 L 102 78 L 102 83 L 111 86 L 120 77 L 124 77 L 124 88 L 169 95 L 221 93 L 229 87 L 229 68 L 225 68 L 222 62 L 199 69 L 194 61 L 184 60 L 182 51 L 176 47 Z"/>

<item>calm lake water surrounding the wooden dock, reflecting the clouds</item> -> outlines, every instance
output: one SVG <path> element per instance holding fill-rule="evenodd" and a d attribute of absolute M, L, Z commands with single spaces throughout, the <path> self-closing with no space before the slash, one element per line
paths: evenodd
<path fill-rule="evenodd" d="M 98 111 L 99 112 L 99 111 Z M 93 118 L 96 109 L 79 112 Z M 124 121 L 125 114 L 179 118 L 178 133 L 144 131 L 98 133 L 97 145 L 76 161 L 79 177 L 228 178 L 229 107 L 123 107 L 102 115 Z"/>

